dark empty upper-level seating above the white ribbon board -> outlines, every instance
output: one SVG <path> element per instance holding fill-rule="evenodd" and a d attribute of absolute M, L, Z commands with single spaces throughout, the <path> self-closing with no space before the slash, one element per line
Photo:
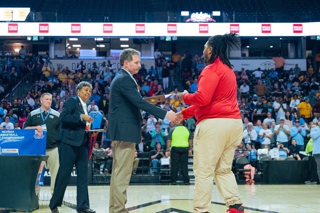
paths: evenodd
<path fill-rule="evenodd" d="M 52 22 L 179 22 L 181 11 L 222 11 L 228 15 L 228 22 L 320 20 L 320 4 L 315 0 L 302 3 L 291 0 L 95 0 L 94 3 L 87 0 L 2 0 L 1 3 L 2 7 L 30 7 L 41 18 L 36 17 L 36 21 Z"/>

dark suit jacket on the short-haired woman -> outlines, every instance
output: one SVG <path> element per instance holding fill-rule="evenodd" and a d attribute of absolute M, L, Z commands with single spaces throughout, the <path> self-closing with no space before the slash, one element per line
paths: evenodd
<path fill-rule="evenodd" d="M 80 146 L 85 134 L 86 121 L 80 120 L 80 114 L 84 114 L 79 97 L 69 97 L 60 113 L 60 126 L 56 140 L 64 143 Z"/>

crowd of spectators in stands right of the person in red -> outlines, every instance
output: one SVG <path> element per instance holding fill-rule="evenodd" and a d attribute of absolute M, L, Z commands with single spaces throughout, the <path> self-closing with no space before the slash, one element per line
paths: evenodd
<path fill-rule="evenodd" d="M 310 70 L 302 71 L 295 64 L 283 71 L 235 71 L 244 142 L 237 148 L 235 160 L 246 157 L 258 166 L 263 154 L 273 160 L 302 160 L 310 153 L 305 152 L 310 130 L 320 118 L 320 73 Z"/>

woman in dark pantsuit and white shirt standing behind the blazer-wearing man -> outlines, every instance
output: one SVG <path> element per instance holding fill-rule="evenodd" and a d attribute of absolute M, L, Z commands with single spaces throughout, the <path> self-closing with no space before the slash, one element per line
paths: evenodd
<path fill-rule="evenodd" d="M 49 204 L 51 213 L 59 213 L 57 207 L 62 204 L 74 165 L 77 169 L 77 212 L 96 213 L 89 206 L 87 180 L 89 133 L 86 129 L 90 129 L 93 118 L 88 115 L 85 102 L 89 100 L 91 91 L 90 83 L 80 82 L 77 86 L 78 96 L 69 97 L 60 114 L 60 126 L 55 137 L 60 165 Z"/>

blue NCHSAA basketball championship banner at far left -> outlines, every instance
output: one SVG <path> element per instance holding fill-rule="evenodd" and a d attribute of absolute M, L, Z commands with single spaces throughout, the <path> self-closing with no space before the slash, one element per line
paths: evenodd
<path fill-rule="evenodd" d="M 0 130 L 1 155 L 46 154 L 47 132 L 36 129 Z M 44 169 L 37 185 L 44 183 Z"/>

